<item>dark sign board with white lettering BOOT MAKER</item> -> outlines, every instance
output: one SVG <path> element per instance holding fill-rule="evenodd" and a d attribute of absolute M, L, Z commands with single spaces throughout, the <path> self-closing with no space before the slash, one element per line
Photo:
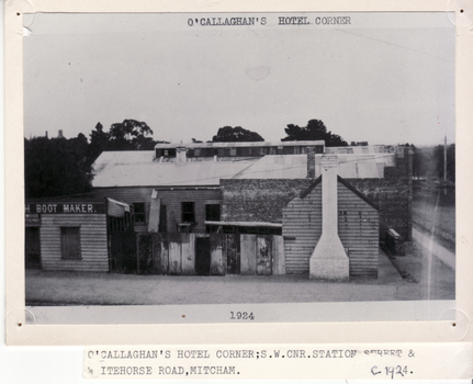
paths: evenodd
<path fill-rule="evenodd" d="M 104 203 L 35 203 L 26 204 L 25 208 L 26 225 L 40 225 L 41 214 L 104 214 Z"/>

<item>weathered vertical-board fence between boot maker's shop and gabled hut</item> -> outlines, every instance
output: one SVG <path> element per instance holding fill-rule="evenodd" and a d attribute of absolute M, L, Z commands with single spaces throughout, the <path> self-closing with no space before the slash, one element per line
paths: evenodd
<path fill-rule="evenodd" d="M 282 236 L 136 234 L 140 274 L 284 274 Z"/>

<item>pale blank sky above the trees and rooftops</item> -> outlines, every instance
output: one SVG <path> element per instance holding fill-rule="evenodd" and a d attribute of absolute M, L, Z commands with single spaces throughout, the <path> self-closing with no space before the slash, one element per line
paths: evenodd
<path fill-rule="evenodd" d="M 258 22 L 201 22 L 237 16 Z M 350 19 L 322 24 L 328 16 Z M 35 13 L 24 26 L 27 138 L 89 137 L 98 122 L 133 118 L 172 143 L 210 140 L 225 125 L 280 140 L 288 124 L 317 118 L 349 143 L 454 143 L 444 12 Z"/>

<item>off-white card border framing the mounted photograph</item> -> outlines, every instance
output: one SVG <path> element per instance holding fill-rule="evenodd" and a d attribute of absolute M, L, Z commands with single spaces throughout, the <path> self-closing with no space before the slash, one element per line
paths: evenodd
<path fill-rule="evenodd" d="M 469 150 L 473 105 L 473 10 L 444 1 L 9 1 L 5 4 L 5 328 L 16 346 L 446 342 L 473 340 L 471 234 L 473 161 Z M 448 9 L 447 9 L 448 7 Z M 31 12 L 323 12 L 455 11 L 457 15 L 457 295 L 439 321 L 25 325 L 23 194 L 22 13 Z M 20 13 L 20 15 L 18 15 Z M 21 256 L 21 257 L 19 257 Z M 451 315 L 455 317 L 452 327 Z M 19 326 L 19 324 L 22 326 Z"/>

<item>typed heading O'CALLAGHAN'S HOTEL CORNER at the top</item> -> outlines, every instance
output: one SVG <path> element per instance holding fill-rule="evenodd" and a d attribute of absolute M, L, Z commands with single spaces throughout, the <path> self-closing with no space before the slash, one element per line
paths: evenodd
<path fill-rule="evenodd" d="M 351 16 L 337 15 L 264 15 L 264 16 L 227 16 L 205 15 L 188 19 L 189 26 L 258 26 L 258 25 L 347 25 L 351 24 Z"/>

